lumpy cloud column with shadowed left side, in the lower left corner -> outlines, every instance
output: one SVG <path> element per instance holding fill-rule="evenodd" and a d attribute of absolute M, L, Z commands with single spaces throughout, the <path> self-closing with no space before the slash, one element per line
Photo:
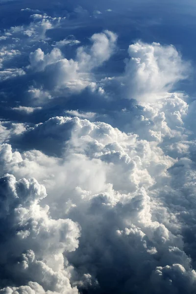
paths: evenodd
<path fill-rule="evenodd" d="M 3 236 L 0 245 L 1 285 L 10 267 L 14 267 L 13 274 L 9 274 L 10 283 L 17 283 L 23 276 L 24 281 L 39 280 L 46 289 L 55 293 L 77 293 L 69 282 L 71 268 L 68 267 L 68 271 L 64 269 L 63 252 L 77 248 L 78 225 L 69 219 L 52 220 L 49 217 L 49 206 L 39 205 L 40 200 L 47 196 L 46 189 L 36 180 L 16 181 L 13 175 L 7 174 L 0 178 L 0 186 L 0 219 L 3 224 L 0 231 Z M 15 260 L 18 260 L 17 264 Z M 29 284 L 43 293 L 37 283 Z M 25 288 L 30 291 L 31 287 L 19 287 L 20 291 L 25 291 Z M 2 293 L 8 291 L 11 289 L 1 290 Z"/>

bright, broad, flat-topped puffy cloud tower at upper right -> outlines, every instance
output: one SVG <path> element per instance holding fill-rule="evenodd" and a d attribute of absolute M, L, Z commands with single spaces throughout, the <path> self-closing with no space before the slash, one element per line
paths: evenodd
<path fill-rule="evenodd" d="M 125 68 L 128 95 L 140 102 L 156 99 L 170 91 L 189 72 L 189 64 L 182 61 L 172 45 L 149 45 L 139 41 L 129 46 L 128 53 L 130 59 Z"/>

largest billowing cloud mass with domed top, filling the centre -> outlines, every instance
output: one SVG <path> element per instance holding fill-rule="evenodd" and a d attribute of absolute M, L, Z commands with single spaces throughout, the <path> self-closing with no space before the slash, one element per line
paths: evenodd
<path fill-rule="evenodd" d="M 171 102 L 174 101 L 176 105 L 183 105 L 175 95 L 171 98 Z M 156 103 L 155 105 L 157 106 Z M 173 107 L 170 103 L 166 105 Z M 157 127 L 160 129 L 159 124 Z M 177 163 L 163 153 L 156 140 L 151 143 L 138 140 L 136 135 L 127 135 L 109 124 L 90 123 L 78 118 L 53 118 L 29 128 L 25 136 L 28 133 L 29 137 L 21 141 L 21 146 L 22 142 L 29 142 L 31 138 L 33 147 L 44 152 L 49 147 L 53 151 L 54 148 L 58 150 L 57 147 L 61 147 L 65 157 L 55 159 L 38 151 L 20 155 L 6 145 L 2 149 L 1 158 L 5 170 L 10 169 L 10 172 L 18 176 L 21 173 L 36 174 L 39 180 L 44 180 L 49 191 L 49 202 L 53 203 L 52 214 L 63 215 L 66 208 L 69 218 L 80 224 L 82 233 L 79 247 L 67 254 L 75 270 L 73 284 L 78 289 L 96 287 L 98 293 L 99 289 L 100 293 L 114 289 L 116 293 L 129 293 L 130 287 L 135 285 L 136 293 L 141 293 L 146 285 L 148 292 L 155 287 L 155 293 L 163 293 L 162 289 L 169 287 L 168 291 L 172 293 L 174 289 L 179 290 L 176 274 L 170 274 L 172 282 L 169 282 L 169 286 L 162 279 L 156 278 L 156 275 L 165 268 L 178 270 L 176 264 L 179 264 L 181 272 L 187 272 L 182 278 L 183 285 L 187 286 L 180 287 L 190 289 L 191 293 L 195 278 L 191 259 L 184 251 L 188 248 L 183 243 L 183 230 L 188 220 L 187 215 L 186 219 L 183 215 L 187 209 L 184 206 L 186 201 L 182 195 L 176 198 L 181 190 L 179 175 L 183 179 L 185 173 L 192 170 L 190 161 Z M 49 144 L 46 144 L 47 140 L 50 140 Z M 65 140 L 66 145 L 63 144 Z M 182 173 L 179 170 L 175 172 L 175 165 Z M 183 168 L 185 165 L 186 169 Z M 180 183 L 187 185 L 188 181 L 181 180 Z M 165 190 L 164 187 L 168 188 Z M 189 185 L 185 187 L 187 189 Z M 54 191 L 59 191 L 61 196 L 54 199 Z M 63 199 L 65 206 L 62 205 Z M 58 201 L 62 211 L 54 204 Z M 181 216 L 176 214 L 174 203 L 180 205 Z M 194 212 L 190 212 L 190 215 L 192 213 Z M 39 263 L 38 267 L 38 261 L 31 256 L 34 255 L 29 251 L 24 256 L 31 272 L 34 272 L 34 267 L 43 269 L 44 265 Z M 92 276 L 92 280 L 97 279 L 98 284 L 85 286 L 85 283 L 80 282 L 87 273 Z M 191 280 L 187 278 L 190 275 Z M 124 283 L 121 282 L 122 279 Z M 58 289 L 57 293 L 62 293 L 60 288 L 52 288 L 51 278 L 50 283 L 43 283 L 41 275 L 39 279 L 36 277 L 36 281 L 44 289 Z M 164 286 L 161 286 L 162 283 Z"/>

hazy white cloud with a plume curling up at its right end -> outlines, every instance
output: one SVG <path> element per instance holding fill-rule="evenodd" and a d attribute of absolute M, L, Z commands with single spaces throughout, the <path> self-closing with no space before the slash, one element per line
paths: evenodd
<path fill-rule="evenodd" d="M 63 57 L 60 49 L 53 48 L 45 54 L 38 48 L 29 55 L 30 69 L 35 72 L 44 72 L 48 84 L 46 88 L 56 91 L 67 90 L 68 93 L 80 92 L 87 87 L 94 87 L 94 79 L 90 76 L 91 71 L 100 67 L 113 54 L 117 36 L 110 31 L 94 34 L 91 37 L 91 47 L 79 47 L 76 60 Z M 94 89 L 93 89 L 94 90 Z M 102 94 L 103 90 L 99 87 Z M 55 95 L 55 92 L 52 96 Z"/>

